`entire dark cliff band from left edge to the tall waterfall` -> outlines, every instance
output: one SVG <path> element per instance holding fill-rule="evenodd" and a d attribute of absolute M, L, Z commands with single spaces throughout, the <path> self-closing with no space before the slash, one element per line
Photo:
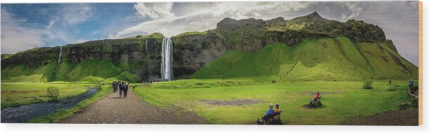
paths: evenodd
<path fill-rule="evenodd" d="M 152 34 L 141 38 L 105 39 L 64 45 L 61 62 L 79 64 L 86 59 L 107 59 L 122 71 L 139 76 L 141 80 L 156 79 L 160 76 L 160 46 L 163 38 L 162 34 Z M 1 70 L 20 64 L 26 64 L 29 68 L 37 68 L 50 63 L 57 64 L 59 54 L 60 47 L 34 48 L 18 52 L 11 57 L 1 59 Z M 58 70 L 63 70 L 62 68 L 63 66 L 60 66 Z M 17 76 L 20 75 L 17 74 Z M 50 76 L 48 78 L 56 80 Z"/>

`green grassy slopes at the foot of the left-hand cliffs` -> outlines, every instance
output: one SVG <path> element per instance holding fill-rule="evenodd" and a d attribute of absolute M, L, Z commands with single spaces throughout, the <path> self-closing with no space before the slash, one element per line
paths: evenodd
<path fill-rule="evenodd" d="M 119 69 L 107 59 L 85 59 L 79 64 L 63 61 L 58 69 L 57 66 L 56 62 L 35 68 L 25 64 L 9 66 L 2 69 L 1 79 L 11 82 L 46 82 L 49 79 L 96 82 L 107 78 L 131 82 L 140 80 L 138 76 Z"/>

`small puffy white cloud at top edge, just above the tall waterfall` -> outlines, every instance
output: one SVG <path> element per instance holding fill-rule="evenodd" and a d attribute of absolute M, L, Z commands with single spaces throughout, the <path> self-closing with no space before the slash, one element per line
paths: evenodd
<path fill-rule="evenodd" d="M 172 2 L 162 2 L 162 3 L 136 3 L 133 8 L 135 8 L 136 13 L 141 17 L 150 17 L 152 19 L 158 19 L 161 17 L 174 16 L 171 11 L 174 3 Z"/>

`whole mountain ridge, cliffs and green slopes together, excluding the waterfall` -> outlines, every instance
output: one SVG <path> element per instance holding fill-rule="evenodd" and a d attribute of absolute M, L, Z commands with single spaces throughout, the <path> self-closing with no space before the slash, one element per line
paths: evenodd
<path fill-rule="evenodd" d="M 162 34 L 34 48 L 2 55 L 1 80 L 160 78 Z M 174 78 L 360 80 L 417 78 L 375 24 L 327 20 L 314 12 L 284 20 L 225 18 L 216 29 L 171 37 Z M 226 61 L 226 62 L 225 62 Z M 230 65 L 229 71 L 223 65 Z M 233 66 L 231 66 L 231 64 Z M 34 76 L 38 75 L 38 76 Z"/>

